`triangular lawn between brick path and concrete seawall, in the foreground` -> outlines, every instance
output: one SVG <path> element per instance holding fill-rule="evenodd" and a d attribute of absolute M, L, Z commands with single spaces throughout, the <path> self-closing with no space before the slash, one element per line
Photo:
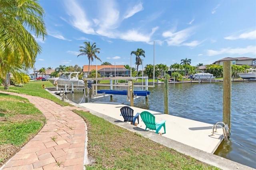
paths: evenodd
<path fill-rule="evenodd" d="M 118 127 L 91 113 L 74 111 L 88 126 L 88 153 L 94 169 L 218 169 Z"/>

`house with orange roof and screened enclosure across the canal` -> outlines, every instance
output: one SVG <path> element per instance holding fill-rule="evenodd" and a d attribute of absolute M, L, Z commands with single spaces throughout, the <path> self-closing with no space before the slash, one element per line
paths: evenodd
<path fill-rule="evenodd" d="M 88 75 L 89 65 L 84 65 L 83 72 L 84 75 Z M 96 70 L 96 65 L 90 65 L 90 70 Z M 122 76 L 130 77 L 130 70 L 126 69 L 124 65 L 97 65 L 97 71 L 100 73 L 101 77 L 113 77 Z"/>

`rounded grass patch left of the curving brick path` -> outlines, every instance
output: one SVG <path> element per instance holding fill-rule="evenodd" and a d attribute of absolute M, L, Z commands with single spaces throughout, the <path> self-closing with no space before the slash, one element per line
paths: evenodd
<path fill-rule="evenodd" d="M 33 138 L 46 123 L 28 99 L 0 93 L 0 165 Z"/>

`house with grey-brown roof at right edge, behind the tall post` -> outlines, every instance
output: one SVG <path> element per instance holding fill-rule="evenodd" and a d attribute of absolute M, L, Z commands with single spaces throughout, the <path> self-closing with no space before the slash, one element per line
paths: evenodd
<path fill-rule="evenodd" d="M 249 57 L 226 57 L 219 59 L 218 61 L 215 61 L 213 64 L 217 65 L 223 65 L 224 61 L 231 61 L 231 64 L 236 65 L 250 65 L 255 66 L 256 65 L 256 58 L 249 58 Z"/>

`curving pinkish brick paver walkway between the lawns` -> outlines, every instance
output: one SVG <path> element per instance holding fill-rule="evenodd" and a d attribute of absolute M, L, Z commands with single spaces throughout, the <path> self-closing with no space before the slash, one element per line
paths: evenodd
<path fill-rule="evenodd" d="M 40 97 L 4 91 L 0 93 L 27 98 L 46 117 L 46 124 L 40 132 L 0 170 L 84 169 L 84 155 L 87 155 L 86 124 L 72 112 L 77 107 L 62 107 Z"/>

